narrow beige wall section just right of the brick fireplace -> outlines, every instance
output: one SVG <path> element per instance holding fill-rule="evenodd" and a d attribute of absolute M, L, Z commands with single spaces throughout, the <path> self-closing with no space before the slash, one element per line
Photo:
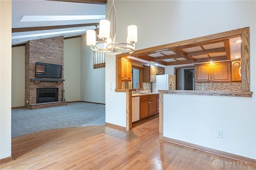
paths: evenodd
<path fill-rule="evenodd" d="M 66 102 L 81 101 L 81 38 L 64 39 L 64 90 Z"/>

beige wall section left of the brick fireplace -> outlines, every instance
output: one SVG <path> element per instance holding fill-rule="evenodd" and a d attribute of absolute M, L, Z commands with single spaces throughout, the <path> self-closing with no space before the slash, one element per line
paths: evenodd
<path fill-rule="evenodd" d="M 12 107 L 25 106 L 25 46 L 12 48 Z"/>

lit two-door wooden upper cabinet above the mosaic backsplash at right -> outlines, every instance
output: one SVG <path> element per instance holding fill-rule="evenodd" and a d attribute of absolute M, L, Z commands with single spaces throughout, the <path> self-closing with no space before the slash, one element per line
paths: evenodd
<path fill-rule="evenodd" d="M 230 62 L 195 64 L 195 82 L 231 82 Z"/>

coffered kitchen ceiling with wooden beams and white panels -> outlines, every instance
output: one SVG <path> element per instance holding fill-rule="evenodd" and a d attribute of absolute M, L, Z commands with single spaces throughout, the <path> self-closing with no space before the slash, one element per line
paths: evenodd
<path fill-rule="evenodd" d="M 241 58 L 241 43 L 236 42 L 238 40 L 240 37 L 232 37 L 211 43 L 135 53 L 130 58 L 140 64 L 162 66 L 235 60 Z"/>

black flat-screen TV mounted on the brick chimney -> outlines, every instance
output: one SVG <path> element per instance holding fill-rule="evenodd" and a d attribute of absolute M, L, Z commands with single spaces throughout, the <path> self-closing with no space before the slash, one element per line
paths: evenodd
<path fill-rule="evenodd" d="M 36 62 L 36 77 L 61 78 L 62 65 Z"/>

